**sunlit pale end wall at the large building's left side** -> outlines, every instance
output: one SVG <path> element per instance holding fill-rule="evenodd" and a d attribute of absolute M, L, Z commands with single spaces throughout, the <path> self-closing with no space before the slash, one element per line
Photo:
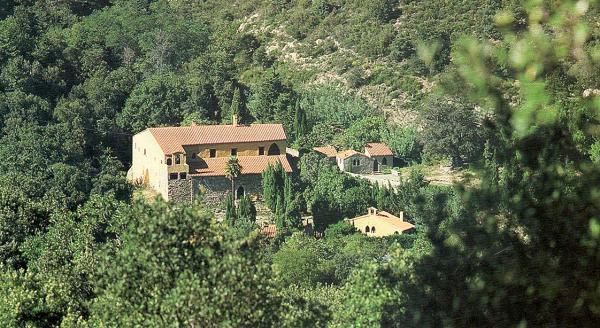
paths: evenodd
<path fill-rule="evenodd" d="M 145 130 L 133 136 L 131 154 L 127 179 L 144 182 L 168 199 L 169 174 L 165 155 L 150 131 Z"/>

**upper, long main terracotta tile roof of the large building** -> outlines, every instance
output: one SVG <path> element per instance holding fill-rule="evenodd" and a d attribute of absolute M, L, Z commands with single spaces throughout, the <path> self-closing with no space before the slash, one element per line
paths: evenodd
<path fill-rule="evenodd" d="M 149 128 L 165 155 L 184 152 L 184 145 L 286 140 L 281 124 L 198 125 Z"/>

